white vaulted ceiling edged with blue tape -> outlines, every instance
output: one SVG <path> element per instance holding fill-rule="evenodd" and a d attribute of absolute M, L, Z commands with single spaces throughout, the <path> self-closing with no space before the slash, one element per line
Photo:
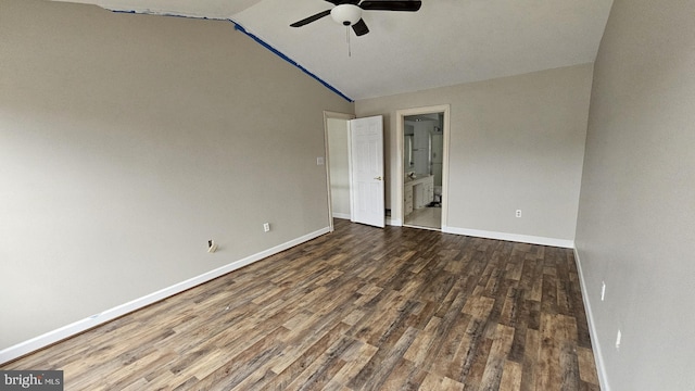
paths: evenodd
<path fill-rule="evenodd" d="M 56 0 L 67 1 L 67 0 Z M 71 0 L 110 10 L 224 18 L 353 100 L 593 62 L 612 0 L 422 0 L 418 12 L 365 11 L 369 34 L 325 0 Z"/>

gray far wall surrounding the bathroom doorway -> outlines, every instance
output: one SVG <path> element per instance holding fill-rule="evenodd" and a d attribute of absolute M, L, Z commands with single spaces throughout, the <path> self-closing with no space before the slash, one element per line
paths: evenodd
<path fill-rule="evenodd" d="M 448 103 L 448 227 L 573 240 L 591 78 L 584 64 L 355 102 L 384 115 L 387 207 L 399 215 L 396 111 Z"/>

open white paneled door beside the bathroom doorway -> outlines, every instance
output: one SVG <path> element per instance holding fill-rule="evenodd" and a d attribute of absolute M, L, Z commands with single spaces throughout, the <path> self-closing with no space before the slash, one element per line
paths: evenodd
<path fill-rule="evenodd" d="M 384 227 L 383 118 L 350 121 L 352 220 Z"/>

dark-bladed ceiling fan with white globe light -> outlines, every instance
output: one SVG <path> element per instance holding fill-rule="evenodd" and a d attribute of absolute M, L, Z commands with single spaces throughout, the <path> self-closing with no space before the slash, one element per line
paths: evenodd
<path fill-rule="evenodd" d="M 343 26 L 352 26 L 357 36 L 369 33 L 367 24 L 362 20 L 362 10 L 365 11 L 410 11 L 420 9 L 422 1 L 419 0 L 326 0 L 334 4 L 330 10 L 321 11 L 315 15 L 292 23 L 291 27 L 302 27 L 324 16 L 330 15 L 333 21 Z"/>

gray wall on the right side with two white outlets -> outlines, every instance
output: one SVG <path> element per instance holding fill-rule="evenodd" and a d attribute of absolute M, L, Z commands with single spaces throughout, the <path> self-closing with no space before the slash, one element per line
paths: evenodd
<path fill-rule="evenodd" d="M 594 67 L 577 249 L 612 390 L 695 390 L 693 15 L 616 0 Z"/>

